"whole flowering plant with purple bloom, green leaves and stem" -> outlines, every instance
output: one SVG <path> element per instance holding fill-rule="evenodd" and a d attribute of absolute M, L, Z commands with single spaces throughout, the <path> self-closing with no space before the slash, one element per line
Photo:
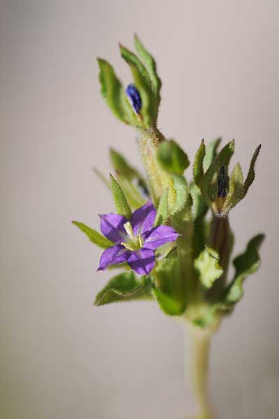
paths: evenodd
<path fill-rule="evenodd" d="M 97 306 L 156 300 L 165 314 L 191 325 L 197 402 L 203 417 L 212 418 L 206 392 L 209 339 L 241 300 L 243 281 L 260 265 L 262 234 L 234 258 L 234 276 L 227 279 L 234 244 L 229 211 L 255 179 L 260 146 L 244 180 L 239 163 L 229 172 L 233 140 L 220 150 L 220 138 L 209 145 L 202 140 L 189 182 L 184 176 L 190 166 L 188 156 L 158 130 L 161 82 L 156 63 L 137 36 L 135 49 L 137 55 L 120 45 L 134 79 L 126 89 L 107 61 L 98 59 L 98 64 L 108 107 L 137 132 L 146 177 L 110 150 L 115 174 L 110 182 L 99 175 L 112 191 L 116 212 L 100 215 L 102 234 L 84 223 L 73 223 L 105 249 L 99 271 L 121 270 L 98 293 Z"/>

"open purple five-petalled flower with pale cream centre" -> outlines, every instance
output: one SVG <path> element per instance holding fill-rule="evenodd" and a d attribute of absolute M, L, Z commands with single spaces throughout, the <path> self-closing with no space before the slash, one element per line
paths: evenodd
<path fill-rule="evenodd" d="M 155 266 L 154 250 L 179 237 L 172 227 L 153 227 L 155 218 L 151 201 L 135 210 L 129 221 L 119 214 L 100 215 L 100 230 L 115 245 L 103 252 L 98 270 L 127 262 L 137 274 L 149 274 Z"/>

